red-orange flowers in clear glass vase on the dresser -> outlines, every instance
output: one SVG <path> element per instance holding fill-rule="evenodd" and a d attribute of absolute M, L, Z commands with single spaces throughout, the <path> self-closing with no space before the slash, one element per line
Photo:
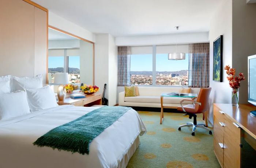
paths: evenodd
<path fill-rule="evenodd" d="M 232 99 L 233 96 L 236 95 L 237 99 L 237 104 L 238 104 L 238 88 L 240 87 L 240 81 L 245 80 L 244 73 L 239 73 L 238 76 L 236 75 L 236 69 L 235 68 L 230 68 L 229 65 L 226 65 L 225 68 L 226 73 L 227 73 L 227 80 L 229 81 L 229 86 L 232 88 Z"/>

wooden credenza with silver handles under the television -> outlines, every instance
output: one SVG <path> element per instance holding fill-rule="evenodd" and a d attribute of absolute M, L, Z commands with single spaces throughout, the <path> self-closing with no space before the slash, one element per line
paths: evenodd
<path fill-rule="evenodd" d="M 242 140 L 256 150 L 256 117 L 249 114 L 252 110 L 256 110 L 253 105 L 214 104 L 214 153 L 222 168 L 244 167 Z"/>

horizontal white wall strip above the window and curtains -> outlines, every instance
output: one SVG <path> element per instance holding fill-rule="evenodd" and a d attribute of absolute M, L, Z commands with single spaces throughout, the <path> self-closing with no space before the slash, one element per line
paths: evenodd
<path fill-rule="evenodd" d="M 164 45 L 164 44 L 190 44 L 209 42 L 208 32 L 202 33 L 182 33 L 169 35 L 116 37 L 117 46 L 132 45 Z"/>

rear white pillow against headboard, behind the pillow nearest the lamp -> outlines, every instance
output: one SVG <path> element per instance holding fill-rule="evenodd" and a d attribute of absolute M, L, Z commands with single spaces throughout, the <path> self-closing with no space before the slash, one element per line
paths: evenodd
<path fill-rule="evenodd" d="M 35 77 L 13 77 L 12 88 L 13 91 L 22 89 L 37 89 L 43 87 L 42 75 Z"/>

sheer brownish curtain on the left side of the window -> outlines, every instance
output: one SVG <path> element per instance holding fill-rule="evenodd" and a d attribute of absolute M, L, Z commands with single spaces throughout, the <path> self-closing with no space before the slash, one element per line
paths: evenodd
<path fill-rule="evenodd" d="M 118 83 L 117 86 L 131 85 L 131 49 L 118 47 Z"/>

